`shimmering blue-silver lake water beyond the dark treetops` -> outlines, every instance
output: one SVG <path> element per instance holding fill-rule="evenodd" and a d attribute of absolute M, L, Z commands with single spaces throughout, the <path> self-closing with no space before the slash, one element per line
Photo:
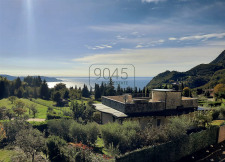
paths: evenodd
<path fill-rule="evenodd" d="M 153 77 L 135 77 L 134 78 L 127 78 L 125 80 L 116 80 L 114 79 L 114 86 L 117 87 L 118 84 L 120 84 L 120 86 L 122 88 L 126 88 L 126 87 L 137 87 L 137 88 L 144 88 L 148 82 L 150 80 L 152 80 Z M 62 77 L 62 78 L 57 78 L 57 79 L 60 79 L 62 80 L 61 82 L 47 82 L 48 84 L 48 87 L 49 88 L 53 88 L 56 84 L 58 83 L 64 83 L 66 84 L 66 87 L 67 88 L 70 88 L 70 87 L 75 87 L 75 85 L 77 87 L 83 87 L 84 84 L 88 85 L 89 87 L 89 83 L 91 84 L 92 87 L 94 87 L 95 83 L 97 84 L 101 84 L 102 81 L 104 83 L 107 83 L 108 80 L 100 80 L 100 79 L 96 79 L 96 78 L 90 78 L 90 81 L 89 81 L 89 77 Z"/>

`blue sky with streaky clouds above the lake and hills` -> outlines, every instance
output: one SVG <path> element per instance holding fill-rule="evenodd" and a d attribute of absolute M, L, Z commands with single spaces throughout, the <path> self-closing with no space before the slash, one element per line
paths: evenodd
<path fill-rule="evenodd" d="M 186 71 L 225 50 L 224 0 L 0 0 L 0 74 Z"/>

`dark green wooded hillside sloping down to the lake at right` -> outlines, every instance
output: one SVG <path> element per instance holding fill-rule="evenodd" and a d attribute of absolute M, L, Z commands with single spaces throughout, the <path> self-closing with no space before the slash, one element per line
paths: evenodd
<path fill-rule="evenodd" d="M 180 81 L 190 88 L 212 88 L 216 84 L 224 81 L 224 76 L 225 50 L 210 64 L 200 64 L 186 72 L 165 71 L 154 77 L 147 86 L 149 88 L 159 88 L 161 85 Z"/>

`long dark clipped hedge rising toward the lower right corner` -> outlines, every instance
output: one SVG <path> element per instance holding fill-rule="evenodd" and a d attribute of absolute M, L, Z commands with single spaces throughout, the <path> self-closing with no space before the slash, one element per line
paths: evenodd
<path fill-rule="evenodd" d="M 182 157 L 217 143 L 218 130 L 218 126 L 212 126 L 201 132 L 185 135 L 168 143 L 132 151 L 116 157 L 116 161 L 177 161 Z"/>

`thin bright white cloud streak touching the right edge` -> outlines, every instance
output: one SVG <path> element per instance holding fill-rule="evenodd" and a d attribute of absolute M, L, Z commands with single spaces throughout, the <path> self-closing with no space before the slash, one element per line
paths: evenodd
<path fill-rule="evenodd" d="M 210 38 L 223 38 L 225 37 L 225 33 L 212 33 L 212 34 L 204 34 L 204 35 L 192 35 L 192 36 L 186 36 L 186 37 L 180 37 L 180 38 L 169 38 L 169 40 L 207 40 Z"/>

